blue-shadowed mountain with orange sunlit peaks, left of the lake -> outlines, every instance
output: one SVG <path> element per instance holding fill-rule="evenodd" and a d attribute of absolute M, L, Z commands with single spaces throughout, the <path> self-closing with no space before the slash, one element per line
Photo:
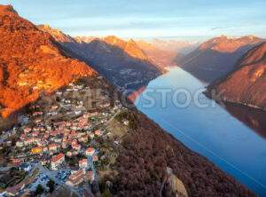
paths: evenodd
<path fill-rule="evenodd" d="M 138 90 L 165 72 L 132 39 L 129 42 L 115 36 L 74 39 L 47 25 L 38 28 L 50 33 L 75 58 L 90 64 L 119 91 Z"/>

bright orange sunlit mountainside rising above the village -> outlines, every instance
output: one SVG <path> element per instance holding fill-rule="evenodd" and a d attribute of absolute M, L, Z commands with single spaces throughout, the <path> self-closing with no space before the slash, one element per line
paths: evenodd
<path fill-rule="evenodd" d="M 22 19 L 11 5 L 0 6 L 0 106 L 6 117 L 79 76 L 93 75 L 49 34 Z"/>

